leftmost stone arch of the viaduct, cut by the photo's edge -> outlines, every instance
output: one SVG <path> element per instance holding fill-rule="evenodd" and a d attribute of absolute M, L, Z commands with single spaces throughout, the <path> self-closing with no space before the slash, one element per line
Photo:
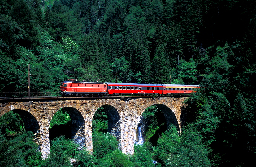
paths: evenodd
<path fill-rule="evenodd" d="M 0 117 L 5 113 L 13 111 L 20 115 L 23 120 L 25 130 L 34 132 L 34 142 L 38 145 L 38 150 L 41 151 L 43 148 L 41 142 L 41 129 L 43 128 L 43 121 L 34 109 L 24 105 L 10 105 L 3 108 L 0 112 Z"/>

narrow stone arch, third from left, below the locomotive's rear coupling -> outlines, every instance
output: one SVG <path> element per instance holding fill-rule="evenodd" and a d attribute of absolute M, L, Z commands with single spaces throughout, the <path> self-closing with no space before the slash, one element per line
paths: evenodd
<path fill-rule="evenodd" d="M 119 112 L 119 107 L 116 103 L 112 101 L 101 101 L 95 105 L 92 112 L 88 116 L 87 122 L 89 123 L 90 131 L 92 130 L 92 120 L 95 112 L 103 107 L 106 110 L 108 117 L 108 132 L 115 136 L 117 139 L 117 145 L 120 150 L 122 150 L 122 140 L 121 140 L 121 113 Z M 92 136 L 91 136 L 92 137 Z M 92 140 L 91 140 L 92 141 Z"/>

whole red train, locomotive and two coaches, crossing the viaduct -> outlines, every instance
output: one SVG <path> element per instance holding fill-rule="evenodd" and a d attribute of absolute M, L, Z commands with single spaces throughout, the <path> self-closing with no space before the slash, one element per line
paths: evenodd
<path fill-rule="evenodd" d="M 132 96 L 132 95 L 187 95 L 195 92 L 199 85 L 136 84 L 113 82 L 61 82 L 62 96 Z"/>

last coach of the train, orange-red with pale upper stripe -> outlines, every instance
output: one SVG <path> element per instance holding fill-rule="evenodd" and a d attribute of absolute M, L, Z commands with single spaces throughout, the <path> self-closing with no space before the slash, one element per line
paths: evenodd
<path fill-rule="evenodd" d="M 195 92 L 195 88 L 198 88 L 199 85 L 168 85 L 163 84 L 163 94 L 190 94 Z"/>

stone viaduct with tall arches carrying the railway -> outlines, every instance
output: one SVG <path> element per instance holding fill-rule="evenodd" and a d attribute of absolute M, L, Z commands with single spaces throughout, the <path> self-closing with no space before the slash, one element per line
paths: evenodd
<path fill-rule="evenodd" d="M 37 98 L 1 99 L 0 117 L 12 111 L 24 121 L 25 130 L 35 133 L 34 141 L 46 158 L 50 153 L 49 127 L 59 109 L 68 112 L 71 118 L 71 138 L 93 151 L 92 120 L 98 108 L 103 107 L 108 115 L 108 131 L 117 138 L 123 153 L 134 153 L 134 135 L 140 116 L 151 105 L 163 112 L 167 123 L 174 124 L 181 132 L 182 108 L 187 97 L 101 97 L 101 98 Z"/>

